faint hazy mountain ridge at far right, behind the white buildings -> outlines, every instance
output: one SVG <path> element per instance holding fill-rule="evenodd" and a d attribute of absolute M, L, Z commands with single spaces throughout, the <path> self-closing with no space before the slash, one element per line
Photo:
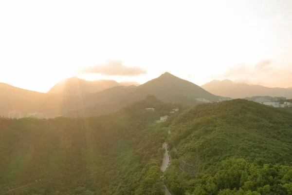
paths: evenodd
<path fill-rule="evenodd" d="M 225 79 L 222 81 L 212 80 L 201 86 L 208 92 L 230 98 L 245 98 L 253 96 L 273 96 L 292 98 L 292 88 L 265 87 L 262 85 L 233 82 Z"/>

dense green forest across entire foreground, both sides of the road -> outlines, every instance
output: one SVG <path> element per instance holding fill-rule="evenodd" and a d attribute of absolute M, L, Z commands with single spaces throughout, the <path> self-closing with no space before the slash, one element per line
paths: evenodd
<path fill-rule="evenodd" d="M 0 118 L 0 193 L 292 195 L 291 113 L 244 99 L 173 108 L 148 96 L 99 117 Z"/>

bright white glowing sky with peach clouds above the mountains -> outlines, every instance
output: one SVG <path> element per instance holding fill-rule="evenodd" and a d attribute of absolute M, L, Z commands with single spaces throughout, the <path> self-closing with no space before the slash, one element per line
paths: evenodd
<path fill-rule="evenodd" d="M 292 87 L 291 0 L 2 0 L 0 82 L 77 76 Z"/>

